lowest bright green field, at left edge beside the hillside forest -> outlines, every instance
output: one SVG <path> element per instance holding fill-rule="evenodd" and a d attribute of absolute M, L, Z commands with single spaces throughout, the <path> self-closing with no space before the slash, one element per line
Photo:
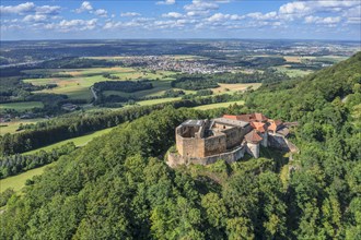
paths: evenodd
<path fill-rule="evenodd" d="M 53 163 L 54 164 L 54 163 Z M 0 180 L 0 193 L 7 189 L 13 189 L 15 192 L 20 191 L 24 185 L 27 179 L 32 179 L 34 176 L 42 175 L 44 169 L 53 164 L 35 168 L 23 173 L 12 176 L 5 179 Z"/>

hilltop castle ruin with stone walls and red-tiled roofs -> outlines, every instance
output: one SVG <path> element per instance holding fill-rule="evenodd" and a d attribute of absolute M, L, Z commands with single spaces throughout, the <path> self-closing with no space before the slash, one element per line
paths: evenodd
<path fill-rule="evenodd" d="M 223 159 L 228 163 L 247 153 L 259 157 L 259 145 L 290 151 L 289 129 L 280 120 L 261 113 L 224 115 L 211 120 L 187 120 L 175 129 L 176 152 L 170 153 L 167 164 L 208 165 Z"/>

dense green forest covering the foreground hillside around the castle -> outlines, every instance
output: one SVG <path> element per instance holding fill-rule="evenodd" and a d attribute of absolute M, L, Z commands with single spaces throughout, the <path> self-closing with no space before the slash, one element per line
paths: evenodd
<path fill-rule="evenodd" d="M 361 239 L 360 65 L 361 52 L 247 93 L 245 106 L 168 106 L 125 122 L 60 157 L 23 194 L 7 191 L 0 238 Z M 165 165 L 185 119 L 255 110 L 299 121 L 292 161 Z"/>

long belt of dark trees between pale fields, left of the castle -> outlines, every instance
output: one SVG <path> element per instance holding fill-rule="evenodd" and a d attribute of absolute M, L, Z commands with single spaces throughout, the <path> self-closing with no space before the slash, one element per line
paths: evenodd
<path fill-rule="evenodd" d="M 148 115 L 155 109 L 162 109 L 165 106 L 173 106 L 175 108 L 196 107 L 238 99 L 240 96 L 226 94 L 210 97 L 191 96 L 190 99 L 153 106 L 136 106 L 133 108 L 125 108 L 115 111 L 101 111 L 95 112 L 95 115 L 89 112 L 65 115 L 47 122 L 25 125 L 24 128 L 26 131 L 21 133 L 0 135 L 0 156 L 24 153 L 51 143 L 84 135 L 96 130 L 115 127 L 125 121 L 135 120 L 141 116 Z"/>

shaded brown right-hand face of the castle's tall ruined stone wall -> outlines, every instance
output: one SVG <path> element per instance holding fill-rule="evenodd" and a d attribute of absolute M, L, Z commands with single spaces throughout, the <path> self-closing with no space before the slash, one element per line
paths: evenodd
<path fill-rule="evenodd" d="M 226 151 L 225 134 L 209 136 L 203 139 L 203 147 L 199 149 L 199 157 L 207 157 L 216 154 L 221 154 Z M 201 153 L 202 151 L 202 153 Z"/>

